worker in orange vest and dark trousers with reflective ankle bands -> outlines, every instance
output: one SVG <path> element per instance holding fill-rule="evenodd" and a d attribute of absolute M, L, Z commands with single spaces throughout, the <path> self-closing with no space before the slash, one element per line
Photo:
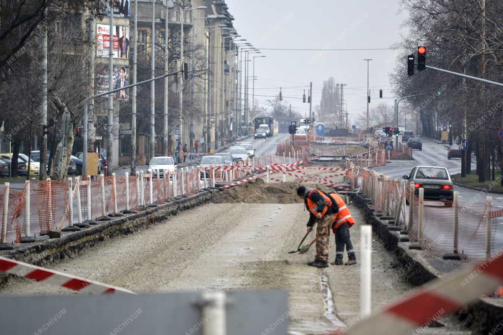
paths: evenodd
<path fill-rule="evenodd" d="M 343 265 L 344 247 L 348 252 L 348 262 L 346 265 L 356 264 L 355 250 L 351 243 L 349 229 L 355 224 L 355 219 L 351 215 L 343 198 L 336 193 L 328 194 L 328 197 L 337 202 L 339 211 L 333 216 L 332 232 L 336 236 L 336 260 L 331 265 Z"/>

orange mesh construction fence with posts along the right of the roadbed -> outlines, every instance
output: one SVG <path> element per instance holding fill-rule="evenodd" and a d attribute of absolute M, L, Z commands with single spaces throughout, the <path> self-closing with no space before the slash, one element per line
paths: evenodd
<path fill-rule="evenodd" d="M 348 169 L 353 171 L 348 173 L 350 182 L 359 183 L 358 193 L 372 200 L 375 212 L 393 217 L 396 230 L 408 234 L 409 241 L 425 252 L 482 260 L 501 248 L 496 229 L 503 210 L 492 206 L 492 197 L 462 201 L 454 191 L 454 201 L 428 201 L 423 188 L 407 180 L 393 180 L 354 163 L 348 163 Z"/>

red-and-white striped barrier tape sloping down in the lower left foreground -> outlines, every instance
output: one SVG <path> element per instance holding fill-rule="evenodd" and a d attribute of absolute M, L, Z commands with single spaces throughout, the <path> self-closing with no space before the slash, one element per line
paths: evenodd
<path fill-rule="evenodd" d="M 113 294 L 117 292 L 135 294 L 129 290 L 45 269 L 39 266 L 0 257 L 0 272 L 66 287 L 70 290 L 91 294 Z"/>

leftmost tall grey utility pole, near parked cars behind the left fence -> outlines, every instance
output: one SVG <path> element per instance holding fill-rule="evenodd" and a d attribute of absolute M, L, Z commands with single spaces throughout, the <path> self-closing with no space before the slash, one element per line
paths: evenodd
<path fill-rule="evenodd" d="M 44 10 L 47 21 L 47 9 Z M 47 25 L 42 25 L 42 147 L 40 148 L 40 180 L 47 178 Z M 9 148 L 11 149 L 11 148 Z M 11 165 L 12 167 L 12 165 Z"/>

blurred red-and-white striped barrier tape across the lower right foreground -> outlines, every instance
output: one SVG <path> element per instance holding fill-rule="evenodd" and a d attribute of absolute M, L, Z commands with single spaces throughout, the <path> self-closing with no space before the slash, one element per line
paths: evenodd
<path fill-rule="evenodd" d="M 426 322 L 452 313 L 503 283 L 503 255 L 476 267 L 467 267 L 448 278 L 424 285 L 410 296 L 351 327 L 346 335 L 407 333 Z M 392 329 L 392 330 L 391 330 Z M 344 332 L 334 332 L 341 335 Z"/>

